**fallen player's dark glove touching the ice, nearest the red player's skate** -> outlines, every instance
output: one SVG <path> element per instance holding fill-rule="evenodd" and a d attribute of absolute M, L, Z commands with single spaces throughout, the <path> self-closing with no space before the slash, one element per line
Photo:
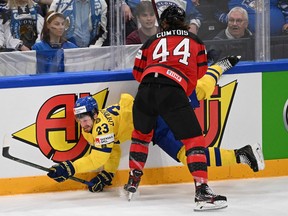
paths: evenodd
<path fill-rule="evenodd" d="M 112 178 L 114 177 L 113 173 L 108 173 L 105 170 L 100 172 L 96 177 L 91 179 L 90 183 L 93 186 L 89 186 L 88 189 L 91 192 L 101 192 L 106 185 L 111 185 Z"/>

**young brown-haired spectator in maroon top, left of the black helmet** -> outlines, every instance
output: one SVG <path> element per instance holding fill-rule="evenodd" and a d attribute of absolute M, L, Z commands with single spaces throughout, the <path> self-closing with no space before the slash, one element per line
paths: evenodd
<path fill-rule="evenodd" d="M 159 29 L 156 26 L 156 16 L 150 1 L 142 1 L 136 8 L 137 20 L 140 28 L 134 30 L 126 38 L 126 44 L 142 44 Z"/>

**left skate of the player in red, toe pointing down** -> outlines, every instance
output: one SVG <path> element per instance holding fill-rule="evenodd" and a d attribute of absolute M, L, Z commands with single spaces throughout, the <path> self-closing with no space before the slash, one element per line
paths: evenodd
<path fill-rule="evenodd" d="M 133 195 L 136 193 L 143 172 L 135 169 L 131 170 L 129 174 L 128 183 L 124 185 L 124 190 L 128 192 L 128 201 L 130 201 Z"/>

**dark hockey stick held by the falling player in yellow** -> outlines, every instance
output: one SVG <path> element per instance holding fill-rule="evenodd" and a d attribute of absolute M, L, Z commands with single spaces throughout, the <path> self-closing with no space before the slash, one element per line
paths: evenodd
<path fill-rule="evenodd" d="M 35 163 L 32 163 L 30 161 L 26 161 L 26 160 L 23 160 L 23 159 L 20 159 L 20 158 L 17 158 L 17 157 L 14 157 L 12 156 L 10 153 L 9 153 L 9 148 L 10 146 L 7 146 L 7 144 L 5 143 L 6 146 L 3 147 L 3 151 L 2 151 L 2 155 L 3 157 L 6 157 L 10 160 L 13 160 L 13 161 L 16 161 L 18 163 L 22 163 L 22 164 L 25 164 L 27 166 L 31 166 L 31 167 L 34 167 L 36 169 L 40 169 L 40 170 L 43 170 L 43 171 L 46 171 L 46 172 L 49 172 L 50 169 L 47 168 L 47 167 L 43 167 L 41 165 L 38 165 L 38 164 L 35 164 Z M 77 178 L 77 177 L 74 177 L 74 176 L 71 176 L 69 177 L 69 179 L 73 180 L 73 181 L 76 181 L 76 182 L 80 182 L 82 184 L 85 184 L 87 186 L 93 186 L 93 184 L 91 184 L 90 182 L 84 180 L 84 179 L 80 179 L 80 178 Z"/>

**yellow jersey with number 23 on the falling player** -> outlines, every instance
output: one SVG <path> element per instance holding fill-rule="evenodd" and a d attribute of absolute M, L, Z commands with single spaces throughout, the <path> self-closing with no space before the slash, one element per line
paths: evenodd
<path fill-rule="evenodd" d="M 73 162 L 76 173 L 99 168 L 116 172 L 121 158 L 120 144 L 131 139 L 133 101 L 131 95 L 122 94 L 119 104 L 99 110 L 91 133 L 82 130 L 84 138 L 92 147 L 89 155 Z"/>

